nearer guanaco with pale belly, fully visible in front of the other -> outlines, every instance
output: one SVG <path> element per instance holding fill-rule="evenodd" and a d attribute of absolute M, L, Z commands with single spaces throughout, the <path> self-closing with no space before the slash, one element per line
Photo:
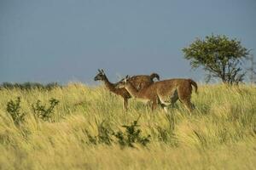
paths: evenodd
<path fill-rule="evenodd" d="M 190 102 L 192 86 L 195 87 L 195 93 L 197 93 L 197 84 L 193 80 L 169 79 L 154 82 L 148 87 L 137 90 L 128 76 L 116 85 L 117 88 L 125 88 L 134 98 L 143 99 L 146 102 L 149 101 L 152 104 L 152 111 L 154 111 L 157 104 L 160 104 L 164 111 L 167 112 L 167 106 L 174 105 L 177 99 L 179 99 L 189 110 L 190 115 L 191 111 L 195 108 L 195 105 Z"/>

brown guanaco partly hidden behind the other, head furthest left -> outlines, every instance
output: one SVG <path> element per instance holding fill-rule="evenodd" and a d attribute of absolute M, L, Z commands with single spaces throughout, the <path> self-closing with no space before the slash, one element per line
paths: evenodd
<path fill-rule="evenodd" d="M 94 78 L 95 81 L 102 81 L 104 82 L 106 88 L 113 94 L 120 95 L 123 98 L 123 107 L 125 111 L 128 109 L 128 99 L 131 98 L 131 94 L 125 88 L 116 88 L 116 85 L 119 83 L 112 83 L 108 81 L 108 77 L 104 73 L 103 70 L 98 69 L 98 74 Z M 150 76 L 148 75 L 138 75 L 130 78 L 130 82 L 133 87 L 137 90 L 143 89 L 148 87 L 150 84 L 154 83 L 154 78 L 160 80 L 160 77 L 156 73 L 152 73 Z"/>

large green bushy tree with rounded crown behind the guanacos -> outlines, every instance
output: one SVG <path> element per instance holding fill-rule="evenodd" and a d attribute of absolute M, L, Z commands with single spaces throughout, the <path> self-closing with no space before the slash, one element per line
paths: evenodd
<path fill-rule="evenodd" d="M 240 41 L 213 34 L 205 40 L 197 38 L 188 48 L 183 48 L 184 57 L 190 60 L 192 68 L 202 66 L 207 71 L 207 82 L 218 77 L 228 84 L 243 81 L 246 72 L 242 71 L 241 65 L 249 52 Z"/>

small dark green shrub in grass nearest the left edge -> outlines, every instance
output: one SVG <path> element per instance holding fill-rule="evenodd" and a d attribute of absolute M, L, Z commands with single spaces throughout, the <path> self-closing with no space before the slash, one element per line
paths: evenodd
<path fill-rule="evenodd" d="M 15 125 L 20 125 L 24 121 L 25 113 L 20 111 L 20 97 L 17 97 L 15 101 L 10 100 L 7 103 L 6 111 L 12 116 Z"/>

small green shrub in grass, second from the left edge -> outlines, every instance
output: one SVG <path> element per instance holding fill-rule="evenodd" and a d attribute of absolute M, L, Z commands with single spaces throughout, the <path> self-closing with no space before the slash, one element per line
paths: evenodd
<path fill-rule="evenodd" d="M 32 110 L 34 116 L 43 119 L 44 121 L 52 122 L 51 116 L 54 113 L 55 106 L 59 104 L 59 100 L 57 99 L 49 99 L 49 107 L 46 105 L 42 105 L 41 101 L 38 99 L 35 105 L 32 105 Z"/>

